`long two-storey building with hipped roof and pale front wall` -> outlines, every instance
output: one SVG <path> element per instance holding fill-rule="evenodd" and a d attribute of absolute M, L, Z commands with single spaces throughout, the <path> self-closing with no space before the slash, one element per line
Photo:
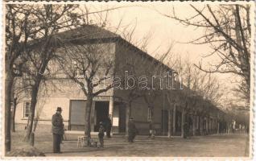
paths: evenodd
<path fill-rule="evenodd" d="M 119 35 L 101 27 L 86 25 L 61 32 L 56 37 L 63 42 L 68 42 L 70 52 L 74 52 L 75 49 L 72 48 L 81 45 L 94 45 L 95 47 L 95 44 L 98 46 L 100 44 L 105 51 L 102 56 L 110 56 L 114 59 L 112 71 L 116 71 L 115 75 L 120 78 L 127 79 L 126 75 L 135 78 L 151 77 L 154 74 L 164 77 L 167 73 L 174 72 L 167 65 L 155 60 L 146 52 L 142 52 Z M 60 45 L 58 52 L 64 53 L 67 50 L 63 50 Z M 49 68 L 57 74 L 47 84 L 47 92 L 45 88 L 39 91 L 36 119 L 39 124 L 51 125 L 52 114 L 55 114 L 57 107 L 61 107 L 66 128 L 84 130 L 87 100 L 85 94 L 76 82 L 68 78 L 62 70 L 63 66 L 54 60 L 49 65 Z M 76 61 L 70 61 L 70 64 L 64 65 L 76 66 L 72 68 L 72 75 L 80 79 L 81 71 L 77 68 Z M 151 72 L 152 70 L 154 73 Z M 29 76 L 20 78 L 21 81 L 26 81 L 26 79 L 29 79 Z M 156 84 L 159 85 L 159 81 Z M 167 85 L 167 82 L 163 84 Z M 177 80 L 174 81 L 173 86 L 175 87 L 173 89 L 154 89 L 145 92 L 139 89 L 126 89 L 121 85 L 120 88 L 112 88 L 93 97 L 91 130 L 97 131 L 99 122 L 105 122 L 108 116 L 112 118 L 114 134 L 126 132 L 128 118 L 134 118 L 139 134 L 148 134 L 149 123 L 152 120 L 157 135 L 182 136 L 185 122 L 188 123 L 191 135 L 225 133 L 230 130 L 232 118 L 229 118 L 227 114 L 179 84 Z M 180 89 L 181 86 L 184 86 L 184 89 Z M 144 97 L 139 94 L 136 96 L 136 93 L 144 93 Z M 145 98 L 145 93 L 148 93 L 149 100 Z M 31 105 L 29 91 L 25 91 L 20 99 L 15 122 L 26 124 Z"/>

